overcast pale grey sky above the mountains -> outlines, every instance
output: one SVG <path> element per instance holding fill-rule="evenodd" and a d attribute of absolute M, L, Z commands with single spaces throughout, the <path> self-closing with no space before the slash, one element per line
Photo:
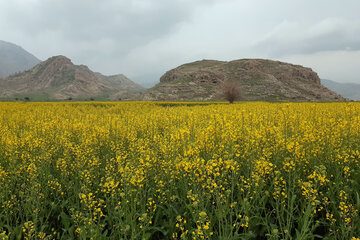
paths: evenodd
<path fill-rule="evenodd" d="M 201 59 L 267 58 L 360 83 L 359 0 L 0 0 L 0 39 L 151 86 Z"/>

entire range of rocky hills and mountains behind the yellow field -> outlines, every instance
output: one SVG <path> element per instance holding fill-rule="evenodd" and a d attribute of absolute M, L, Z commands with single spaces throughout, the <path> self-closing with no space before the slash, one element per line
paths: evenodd
<path fill-rule="evenodd" d="M 226 81 L 236 82 L 242 99 L 249 101 L 344 101 L 342 96 L 360 100 L 360 84 L 320 81 L 310 68 L 265 59 L 187 63 L 166 72 L 160 83 L 145 90 L 122 74 L 104 76 L 85 65 L 74 65 L 65 56 L 41 62 L 23 48 L 0 40 L 0 99 L 222 100 L 219 90 Z"/>

